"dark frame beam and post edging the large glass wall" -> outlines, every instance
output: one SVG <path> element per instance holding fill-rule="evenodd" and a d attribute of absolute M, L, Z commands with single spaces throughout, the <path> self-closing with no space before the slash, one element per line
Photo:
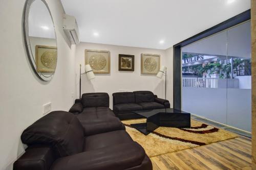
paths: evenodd
<path fill-rule="evenodd" d="M 198 41 L 202 38 L 206 38 L 210 35 L 216 34 L 220 31 L 226 30 L 230 27 L 236 26 L 241 22 L 249 20 L 251 18 L 250 10 L 247 10 L 241 14 L 238 14 L 218 25 L 211 27 L 193 37 L 190 37 L 184 41 L 179 42 L 173 46 L 174 49 L 174 108 L 181 109 L 181 47 Z"/>

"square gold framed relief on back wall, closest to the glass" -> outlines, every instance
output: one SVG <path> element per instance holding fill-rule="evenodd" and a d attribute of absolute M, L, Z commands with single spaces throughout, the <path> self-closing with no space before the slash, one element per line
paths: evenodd
<path fill-rule="evenodd" d="M 156 75 L 160 69 L 160 55 L 141 54 L 141 74 Z"/>

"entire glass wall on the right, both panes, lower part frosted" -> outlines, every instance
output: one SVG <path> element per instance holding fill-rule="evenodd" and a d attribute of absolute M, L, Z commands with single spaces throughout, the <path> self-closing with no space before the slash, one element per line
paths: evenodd
<path fill-rule="evenodd" d="M 182 47 L 182 110 L 251 131 L 250 21 Z"/>

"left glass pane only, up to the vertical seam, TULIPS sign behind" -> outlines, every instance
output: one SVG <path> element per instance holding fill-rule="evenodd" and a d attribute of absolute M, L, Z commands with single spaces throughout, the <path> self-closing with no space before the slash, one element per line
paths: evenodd
<path fill-rule="evenodd" d="M 182 109 L 227 123 L 226 31 L 182 48 Z"/>

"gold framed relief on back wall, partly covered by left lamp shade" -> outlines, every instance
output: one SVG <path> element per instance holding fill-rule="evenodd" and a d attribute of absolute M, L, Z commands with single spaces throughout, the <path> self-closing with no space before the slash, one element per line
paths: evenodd
<path fill-rule="evenodd" d="M 103 50 L 85 50 L 84 59 L 95 74 L 110 73 L 110 52 Z"/>

